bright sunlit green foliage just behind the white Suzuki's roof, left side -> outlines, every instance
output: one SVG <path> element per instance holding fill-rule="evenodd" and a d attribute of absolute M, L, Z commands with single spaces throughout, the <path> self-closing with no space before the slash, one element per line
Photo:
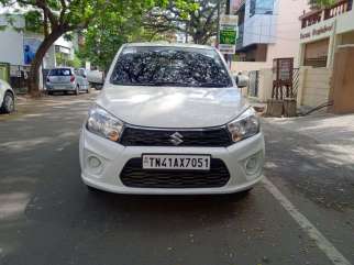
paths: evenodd
<path fill-rule="evenodd" d="M 176 1 L 185 7 L 186 1 Z M 108 70 L 115 53 L 124 43 L 162 40 L 163 36 L 143 26 L 143 15 L 152 9 L 167 8 L 168 1 L 124 1 L 108 7 L 85 31 L 85 45 L 79 57 L 91 65 Z M 117 12 L 117 10 L 120 10 Z"/>

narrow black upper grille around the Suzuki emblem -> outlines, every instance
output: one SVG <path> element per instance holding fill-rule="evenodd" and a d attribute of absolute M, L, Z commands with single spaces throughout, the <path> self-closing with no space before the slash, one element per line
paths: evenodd
<path fill-rule="evenodd" d="M 225 147 L 232 144 L 225 128 L 206 130 L 152 130 L 140 128 L 125 128 L 121 144 L 125 146 L 175 146 L 170 135 L 178 132 L 182 142 L 178 146 Z"/>

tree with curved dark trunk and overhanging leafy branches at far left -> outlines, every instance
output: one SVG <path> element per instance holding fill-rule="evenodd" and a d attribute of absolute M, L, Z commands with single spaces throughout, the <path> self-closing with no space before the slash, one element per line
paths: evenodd
<path fill-rule="evenodd" d="M 177 0 L 181 4 L 184 0 Z M 153 7 L 165 7 L 167 0 L 0 0 L 1 5 L 14 8 L 14 12 L 25 15 L 26 29 L 41 32 L 44 40 L 31 63 L 29 92 L 38 93 L 38 69 L 43 57 L 53 43 L 62 35 L 87 29 L 96 20 L 98 25 L 109 24 L 124 16 L 126 10 L 145 11 Z M 117 16 L 117 18 L 112 18 Z M 118 32 L 119 34 L 119 32 Z"/>

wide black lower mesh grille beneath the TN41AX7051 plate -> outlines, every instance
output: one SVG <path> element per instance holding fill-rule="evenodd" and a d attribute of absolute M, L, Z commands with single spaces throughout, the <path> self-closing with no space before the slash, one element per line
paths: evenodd
<path fill-rule="evenodd" d="M 121 172 L 121 180 L 132 188 L 218 188 L 226 185 L 229 170 L 221 159 L 210 161 L 209 172 L 148 170 L 142 168 L 142 158 L 130 159 Z"/>

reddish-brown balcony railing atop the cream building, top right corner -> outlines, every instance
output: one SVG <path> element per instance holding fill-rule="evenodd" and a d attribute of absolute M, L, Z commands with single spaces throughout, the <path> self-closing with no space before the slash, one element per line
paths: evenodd
<path fill-rule="evenodd" d="M 331 5 L 330 8 L 308 12 L 302 16 L 300 16 L 301 27 L 305 29 L 307 26 L 317 24 L 321 21 L 338 16 L 342 13 L 351 11 L 352 7 L 353 7 L 353 0 L 340 0 L 335 4 Z"/>

